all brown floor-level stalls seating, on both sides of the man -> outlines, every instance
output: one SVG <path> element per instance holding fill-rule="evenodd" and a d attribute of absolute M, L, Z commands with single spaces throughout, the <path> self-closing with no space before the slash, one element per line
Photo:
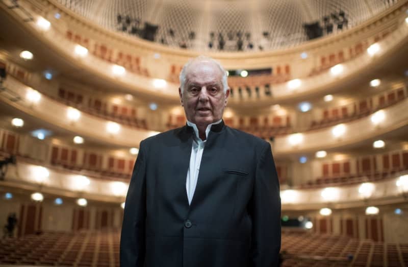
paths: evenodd
<path fill-rule="evenodd" d="M 45 232 L 0 240 L 0 264 L 119 266 L 119 230 Z M 401 255 L 401 257 L 399 257 Z M 282 266 L 403 266 L 408 244 L 282 231 Z"/>

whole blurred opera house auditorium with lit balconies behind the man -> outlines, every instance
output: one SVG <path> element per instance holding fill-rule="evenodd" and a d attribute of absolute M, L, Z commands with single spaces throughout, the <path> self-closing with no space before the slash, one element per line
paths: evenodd
<path fill-rule="evenodd" d="M 119 266 L 140 141 L 186 125 L 199 55 L 271 145 L 281 265 L 408 266 L 408 0 L 2 0 L 0 25 L 0 266 Z"/>

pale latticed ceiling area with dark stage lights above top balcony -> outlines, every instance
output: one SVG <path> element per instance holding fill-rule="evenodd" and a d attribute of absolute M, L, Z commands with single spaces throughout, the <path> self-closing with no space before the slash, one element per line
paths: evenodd
<path fill-rule="evenodd" d="M 246 52 L 291 47 L 311 38 L 336 34 L 398 3 L 398 0 L 57 1 L 104 28 L 136 38 L 195 51 Z M 313 23 L 307 31 L 304 25 Z"/>

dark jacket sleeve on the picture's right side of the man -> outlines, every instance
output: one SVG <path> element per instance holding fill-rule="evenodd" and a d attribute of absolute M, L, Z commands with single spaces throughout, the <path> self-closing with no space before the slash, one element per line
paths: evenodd
<path fill-rule="evenodd" d="M 249 265 L 278 266 L 281 249 L 281 197 L 269 143 L 264 147 L 257 164 L 249 213 L 252 219 Z"/>

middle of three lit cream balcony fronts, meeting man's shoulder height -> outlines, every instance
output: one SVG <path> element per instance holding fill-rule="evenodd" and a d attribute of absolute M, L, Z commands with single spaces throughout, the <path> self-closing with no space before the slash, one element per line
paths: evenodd
<path fill-rule="evenodd" d="M 141 140 L 158 132 L 133 129 L 119 126 L 119 133 L 107 132 L 108 122 L 93 115 L 81 114 L 77 122 L 70 122 L 66 117 L 67 106 L 47 98 L 41 97 L 40 104 L 25 100 L 26 95 L 33 89 L 21 84 L 14 78 L 8 77 L 4 82 L 6 90 L 0 98 L 8 105 L 25 113 L 45 120 L 48 123 L 76 132 L 82 136 L 92 136 L 102 141 L 134 147 Z M 18 101 L 15 101 L 15 100 Z M 352 122 L 339 124 L 331 128 L 296 133 L 276 137 L 273 143 L 273 153 L 276 156 L 315 152 L 321 149 L 342 147 L 365 139 L 402 128 L 408 124 L 408 99 L 386 109 L 378 110 L 371 116 L 363 117 Z"/>

